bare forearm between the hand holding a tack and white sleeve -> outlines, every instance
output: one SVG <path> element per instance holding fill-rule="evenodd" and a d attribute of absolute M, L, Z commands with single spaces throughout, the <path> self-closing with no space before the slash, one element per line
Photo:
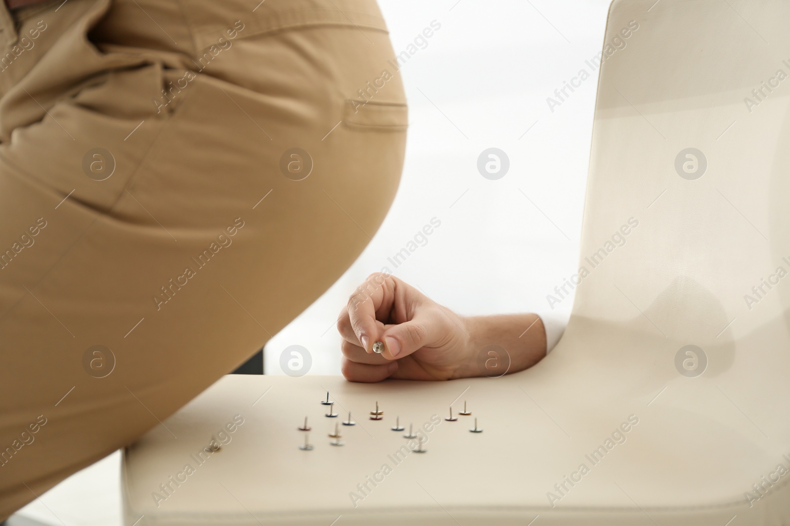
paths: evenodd
<path fill-rule="evenodd" d="M 546 356 L 546 330 L 540 316 L 536 314 L 502 314 L 493 316 L 470 316 L 464 319 L 469 335 L 469 376 L 495 374 L 496 371 L 480 370 L 480 353 L 489 345 L 498 345 L 506 356 L 498 357 L 509 373 L 523 371 Z M 494 348 L 490 350 L 496 350 Z M 487 355 L 492 356 L 492 355 Z"/>

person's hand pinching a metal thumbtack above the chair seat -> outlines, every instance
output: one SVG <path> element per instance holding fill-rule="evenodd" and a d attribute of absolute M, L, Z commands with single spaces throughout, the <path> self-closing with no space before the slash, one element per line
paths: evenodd
<path fill-rule="evenodd" d="M 371 274 L 337 320 L 343 375 L 354 382 L 479 375 L 465 324 L 401 279 Z M 373 352 L 376 341 L 384 342 L 382 354 Z"/>

